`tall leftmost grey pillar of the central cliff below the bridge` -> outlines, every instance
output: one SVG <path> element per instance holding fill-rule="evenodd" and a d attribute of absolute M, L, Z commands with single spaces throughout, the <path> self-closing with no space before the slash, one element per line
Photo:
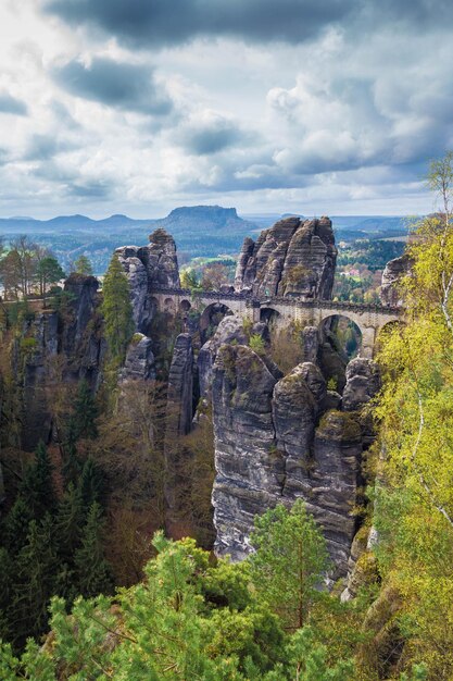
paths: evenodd
<path fill-rule="evenodd" d="M 272 419 L 276 380 L 243 345 L 223 345 L 212 386 L 216 479 L 212 494 L 216 553 L 240 560 L 253 518 L 275 505 L 285 481 Z"/>

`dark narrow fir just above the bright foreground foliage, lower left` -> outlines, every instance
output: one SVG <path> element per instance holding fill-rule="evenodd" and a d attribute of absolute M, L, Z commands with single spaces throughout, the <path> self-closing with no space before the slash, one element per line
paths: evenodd
<path fill-rule="evenodd" d="M 74 557 L 78 587 L 87 598 L 111 593 L 113 587 L 112 569 L 102 547 L 103 525 L 101 507 L 95 502 L 81 533 L 81 546 Z"/>

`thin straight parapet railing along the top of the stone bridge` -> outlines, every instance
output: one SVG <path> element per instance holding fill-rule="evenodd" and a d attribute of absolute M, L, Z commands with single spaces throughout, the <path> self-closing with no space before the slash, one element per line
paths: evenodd
<path fill-rule="evenodd" d="M 307 300 L 302 296 L 266 296 L 264 298 L 256 298 L 252 292 L 221 292 L 221 290 L 192 290 L 190 288 L 167 288 L 164 286 L 154 286 L 151 293 L 166 294 L 168 296 L 178 296 L 186 298 L 203 298 L 207 300 L 215 300 L 222 302 L 223 300 L 246 300 L 253 307 L 270 307 L 273 305 L 298 307 L 298 308 L 317 308 L 322 310 L 335 309 L 344 310 L 348 312 L 357 313 L 381 313 L 401 315 L 404 312 L 404 308 L 398 306 L 386 306 L 379 304 L 365 304 L 365 302 L 348 302 L 337 300 L 322 300 L 314 298 Z"/>

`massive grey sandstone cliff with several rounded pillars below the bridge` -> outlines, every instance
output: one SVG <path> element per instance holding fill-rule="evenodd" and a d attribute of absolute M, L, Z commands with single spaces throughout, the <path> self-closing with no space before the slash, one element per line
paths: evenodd
<path fill-rule="evenodd" d="M 378 389 L 377 375 L 372 360 L 352 363 L 343 411 L 315 363 L 277 377 L 251 348 L 221 346 L 212 387 L 218 555 L 243 558 L 254 516 L 301 497 L 323 527 L 337 575 L 345 574 L 366 435 L 356 410 Z M 355 384 L 361 391 L 352 401 Z"/>

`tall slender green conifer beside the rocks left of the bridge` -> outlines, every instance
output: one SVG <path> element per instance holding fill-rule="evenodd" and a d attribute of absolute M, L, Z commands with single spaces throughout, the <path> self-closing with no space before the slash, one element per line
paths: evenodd
<path fill-rule="evenodd" d="M 105 337 L 114 363 L 121 364 L 134 333 L 133 306 L 127 277 L 118 257 L 113 256 L 103 281 L 102 314 Z"/>

